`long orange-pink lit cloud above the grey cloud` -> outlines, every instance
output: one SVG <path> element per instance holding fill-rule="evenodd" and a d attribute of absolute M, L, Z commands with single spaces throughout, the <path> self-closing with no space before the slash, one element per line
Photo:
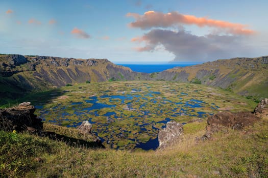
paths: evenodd
<path fill-rule="evenodd" d="M 186 24 L 197 25 L 199 27 L 214 27 L 234 35 L 251 35 L 255 33 L 252 29 L 247 29 L 247 25 L 209 19 L 207 17 L 184 15 L 178 12 L 169 12 L 164 14 L 162 12 L 148 11 L 143 15 L 139 15 L 137 13 L 127 13 L 127 17 L 134 17 L 136 20 L 129 24 L 130 27 L 141 29 L 150 29 L 153 27 L 172 27 L 175 25 Z"/>

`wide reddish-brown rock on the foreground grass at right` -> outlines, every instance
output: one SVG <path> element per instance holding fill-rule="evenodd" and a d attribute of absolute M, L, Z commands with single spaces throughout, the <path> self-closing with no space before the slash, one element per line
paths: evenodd
<path fill-rule="evenodd" d="M 207 120 L 205 138 L 211 138 L 211 134 L 225 129 L 243 130 L 245 127 L 253 125 L 260 118 L 252 112 L 227 112 L 220 111 L 211 115 Z"/>

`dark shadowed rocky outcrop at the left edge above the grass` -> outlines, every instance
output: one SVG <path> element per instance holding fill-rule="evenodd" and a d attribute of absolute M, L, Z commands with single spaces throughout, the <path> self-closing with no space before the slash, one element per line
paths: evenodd
<path fill-rule="evenodd" d="M 35 108 L 30 102 L 18 106 L 0 109 L 0 129 L 4 131 L 30 131 L 41 134 L 43 123 L 34 114 Z"/>

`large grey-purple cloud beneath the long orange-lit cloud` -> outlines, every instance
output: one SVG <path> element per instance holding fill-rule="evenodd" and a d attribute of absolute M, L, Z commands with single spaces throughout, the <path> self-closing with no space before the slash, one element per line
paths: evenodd
<path fill-rule="evenodd" d="M 184 29 L 174 32 L 152 29 L 142 37 L 132 41 L 144 42 L 145 46 L 136 47 L 137 51 L 155 51 L 159 45 L 172 52 L 174 61 L 208 61 L 215 58 L 250 55 L 250 48 L 243 44 L 243 36 L 206 35 L 196 36 Z"/>

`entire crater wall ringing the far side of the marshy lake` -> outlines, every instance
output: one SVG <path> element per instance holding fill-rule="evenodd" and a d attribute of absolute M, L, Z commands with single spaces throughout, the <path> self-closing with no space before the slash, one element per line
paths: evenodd
<path fill-rule="evenodd" d="M 166 80 L 222 87 L 258 101 L 268 97 L 268 57 L 232 58 L 160 73 L 138 73 L 98 59 L 51 56 L 0 55 L 1 105 L 32 91 L 45 91 L 68 83 L 113 80 Z"/>

